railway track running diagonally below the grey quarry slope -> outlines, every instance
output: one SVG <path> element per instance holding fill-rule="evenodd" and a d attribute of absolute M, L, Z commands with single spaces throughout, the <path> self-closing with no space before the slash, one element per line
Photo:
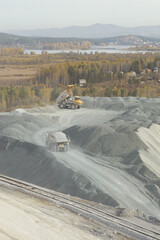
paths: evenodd
<path fill-rule="evenodd" d="M 9 188 L 14 188 L 22 192 L 46 199 L 54 204 L 58 204 L 70 211 L 80 214 L 86 218 L 94 221 L 101 222 L 110 228 L 115 229 L 121 233 L 124 233 L 130 237 L 139 240 L 160 240 L 160 230 L 154 230 L 139 226 L 135 223 L 129 222 L 125 219 L 121 219 L 115 215 L 108 213 L 107 211 L 96 208 L 85 202 L 71 199 L 70 196 L 66 196 L 61 193 L 54 192 L 52 190 L 42 188 L 27 182 L 23 182 L 17 179 L 13 179 L 7 176 L 0 175 L 0 184 Z"/>

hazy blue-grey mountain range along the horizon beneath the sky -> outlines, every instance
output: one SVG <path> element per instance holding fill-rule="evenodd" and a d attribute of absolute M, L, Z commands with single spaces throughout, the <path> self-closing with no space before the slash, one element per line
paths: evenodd
<path fill-rule="evenodd" d="M 77 37 L 108 38 L 123 35 L 138 35 L 160 38 L 159 26 L 120 27 L 113 24 L 94 24 L 91 26 L 70 26 L 66 28 L 49 28 L 38 30 L 15 30 L 8 33 L 32 37 Z"/>

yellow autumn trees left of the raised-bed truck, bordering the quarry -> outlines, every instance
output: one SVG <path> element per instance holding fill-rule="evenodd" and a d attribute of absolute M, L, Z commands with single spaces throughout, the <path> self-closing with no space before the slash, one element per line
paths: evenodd
<path fill-rule="evenodd" d="M 0 87 L 0 111 L 11 111 L 17 107 L 31 107 L 54 102 L 61 88 L 45 86 Z"/>

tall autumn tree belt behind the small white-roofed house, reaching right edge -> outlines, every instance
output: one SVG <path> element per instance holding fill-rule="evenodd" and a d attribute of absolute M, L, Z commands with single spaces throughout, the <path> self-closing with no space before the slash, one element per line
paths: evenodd
<path fill-rule="evenodd" d="M 153 70 L 155 66 L 160 67 L 160 58 L 58 63 L 42 67 L 36 76 L 36 82 L 48 87 L 57 84 L 78 84 L 79 79 L 86 79 L 87 83 L 101 83 L 115 79 L 122 80 L 128 78 L 127 73 L 130 71 L 139 74 L 144 68 Z"/>

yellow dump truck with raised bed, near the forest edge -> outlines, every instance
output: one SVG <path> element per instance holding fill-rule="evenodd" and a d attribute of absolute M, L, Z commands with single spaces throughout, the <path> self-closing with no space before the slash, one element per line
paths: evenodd
<path fill-rule="evenodd" d="M 78 109 L 83 106 L 83 101 L 79 96 L 73 96 L 72 88 L 74 85 L 68 85 L 62 94 L 56 99 L 59 108 Z"/>

